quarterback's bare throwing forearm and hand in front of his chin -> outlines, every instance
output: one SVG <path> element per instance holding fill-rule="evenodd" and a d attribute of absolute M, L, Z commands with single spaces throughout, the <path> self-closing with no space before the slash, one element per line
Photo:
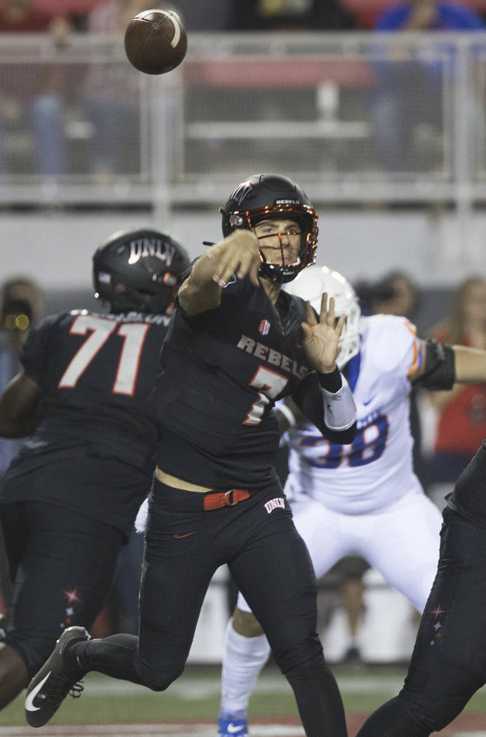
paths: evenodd
<path fill-rule="evenodd" d="M 261 261 L 258 239 L 252 231 L 236 230 L 202 254 L 178 292 L 180 307 L 188 315 L 199 315 L 219 307 L 222 289 L 233 274 L 249 276 L 256 287 Z"/>

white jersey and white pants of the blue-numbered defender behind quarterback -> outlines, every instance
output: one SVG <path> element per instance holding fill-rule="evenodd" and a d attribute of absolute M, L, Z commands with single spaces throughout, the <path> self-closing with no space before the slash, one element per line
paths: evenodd
<path fill-rule="evenodd" d="M 420 346 L 406 318 L 359 321 L 361 345 L 348 362 L 357 411 L 351 445 L 322 443 L 311 425 L 287 432 L 285 493 L 319 579 L 359 554 L 421 612 L 434 580 L 442 518 L 412 467 L 409 375 Z M 239 608 L 245 610 L 240 598 Z"/>

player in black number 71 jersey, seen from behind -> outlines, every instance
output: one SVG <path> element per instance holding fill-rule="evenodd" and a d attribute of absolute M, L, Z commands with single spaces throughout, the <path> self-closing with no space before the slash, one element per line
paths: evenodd
<path fill-rule="evenodd" d="M 120 547 L 150 486 L 156 443 L 144 404 L 186 252 L 160 231 L 122 231 L 94 254 L 108 314 L 51 315 L 30 332 L 0 399 L 0 434 L 25 436 L 0 489 L 10 576 L 0 708 L 27 686 L 63 628 L 105 604 Z"/>

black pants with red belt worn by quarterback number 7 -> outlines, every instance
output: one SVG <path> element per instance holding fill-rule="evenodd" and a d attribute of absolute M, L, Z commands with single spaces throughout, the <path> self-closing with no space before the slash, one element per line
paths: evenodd
<path fill-rule="evenodd" d="M 185 666 L 211 578 L 228 563 L 294 689 L 306 735 L 345 737 L 341 697 L 316 634 L 314 572 L 280 483 L 211 511 L 204 496 L 154 478 L 139 638 L 114 635 L 73 652 L 88 670 L 167 688 Z"/>

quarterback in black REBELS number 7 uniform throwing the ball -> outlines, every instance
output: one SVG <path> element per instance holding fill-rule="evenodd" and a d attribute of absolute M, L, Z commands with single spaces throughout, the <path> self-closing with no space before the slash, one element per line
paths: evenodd
<path fill-rule="evenodd" d="M 309 554 L 273 469 L 271 412 L 292 394 L 326 436 L 352 441 L 356 409 L 335 363 L 345 316 L 335 321 L 323 295 L 317 322 L 309 304 L 281 292 L 314 262 L 317 213 L 300 186 L 253 176 L 222 214 L 225 238 L 180 287 L 152 394 L 161 437 L 139 637 L 66 631 L 29 684 L 32 726 L 50 719 L 86 671 L 167 688 L 183 671 L 211 577 L 228 563 L 295 691 L 306 735 L 346 735 L 316 633 Z"/>

